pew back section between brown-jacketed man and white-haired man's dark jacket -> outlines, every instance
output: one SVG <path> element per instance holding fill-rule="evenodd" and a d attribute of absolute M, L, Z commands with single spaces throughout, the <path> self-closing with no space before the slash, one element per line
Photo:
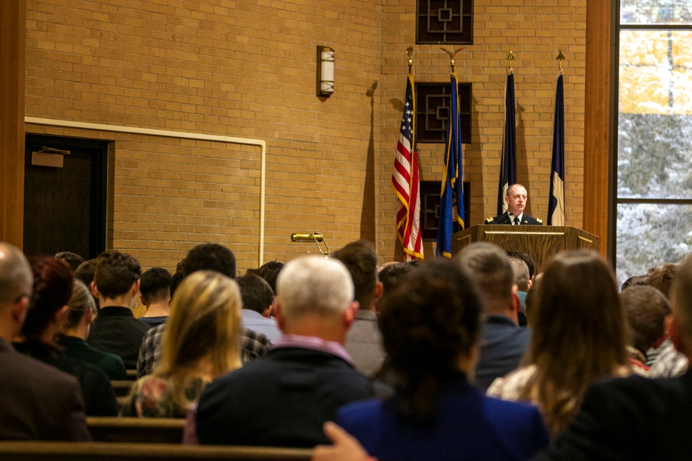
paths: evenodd
<path fill-rule="evenodd" d="M 180 418 L 108 417 L 86 418 L 96 442 L 147 442 L 179 444 L 185 420 Z"/>

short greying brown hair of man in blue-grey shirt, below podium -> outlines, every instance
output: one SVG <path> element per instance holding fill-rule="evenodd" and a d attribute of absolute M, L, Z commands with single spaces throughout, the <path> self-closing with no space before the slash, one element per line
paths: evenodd
<path fill-rule="evenodd" d="M 471 275 L 486 302 L 511 298 L 514 272 L 509 256 L 500 247 L 486 242 L 471 243 L 459 252 L 457 261 Z"/>

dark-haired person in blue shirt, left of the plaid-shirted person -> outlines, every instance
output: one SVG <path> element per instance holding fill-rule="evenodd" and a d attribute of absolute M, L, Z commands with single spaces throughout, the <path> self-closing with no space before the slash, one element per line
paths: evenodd
<path fill-rule="evenodd" d="M 142 274 L 139 298 L 147 307 L 147 313 L 138 320 L 149 328 L 161 325 L 168 319 L 171 308 L 171 273 L 163 267 L 152 267 Z"/>

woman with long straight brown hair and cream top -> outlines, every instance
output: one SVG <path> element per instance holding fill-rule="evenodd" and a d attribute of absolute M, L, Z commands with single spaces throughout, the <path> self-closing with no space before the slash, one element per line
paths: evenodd
<path fill-rule="evenodd" d="M 553 436 L 579 411 L 597 379 L 630 373 L 617 282 L 593 252 L 564 252 L 548 264 L 532 316 L 528 365 L 498 378 L 488 395 L 536 404 Z"/>

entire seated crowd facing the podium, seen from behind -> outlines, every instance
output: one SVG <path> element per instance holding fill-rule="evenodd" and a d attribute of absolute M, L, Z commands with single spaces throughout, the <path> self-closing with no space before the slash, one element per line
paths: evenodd
<path fill-rule="evenodd" d="M 236 276 L 215 243 L 173 274 L 0 243 L 0 440 L 120 415 L 317 461 L 689 458 L 692 258 L 619 288 L 592 252 L 536 274 L 489 243 L 378 266 L 356 241 Z"/>

